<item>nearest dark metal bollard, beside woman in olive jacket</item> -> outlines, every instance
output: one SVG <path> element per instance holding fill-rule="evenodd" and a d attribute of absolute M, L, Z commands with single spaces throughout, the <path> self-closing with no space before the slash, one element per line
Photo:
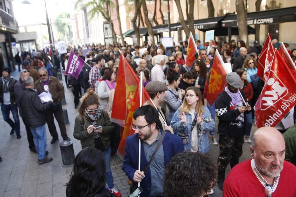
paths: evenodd
<path fill-rule="evenodd" d="M 62 167 L 71 167 L 74 165 L 75 154 L 72 141 L 63 141 L 59 143 L 59 149 L 62 155 Z"/>

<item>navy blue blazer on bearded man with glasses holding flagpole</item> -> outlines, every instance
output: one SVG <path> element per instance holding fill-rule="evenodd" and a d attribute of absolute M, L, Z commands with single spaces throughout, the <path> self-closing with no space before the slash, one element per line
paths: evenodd
<path fill-rule="evenodd" d="M 162 133 L 163 130 L 160 130 Z M 165 134 L 163 139 L 163 153 L 165 159 L 165 165 L 170 162 L 171 158 L 178 152 L 184 151 L 183 141 L 179 136 L 173 135 L 169 132 Z M 145 165 L 148 163 L 145 152 L 143 141 L 141 141 L 141 171 L 143 171 Z M 126 154 L 124 155 L 122 169 L 130 180 L 133 181 L 133 175 L 138 170 L 139 166 L 139 137 L 136 134 L 128 136 L 126 138 Z M 152 180 L 153 181 L 153 180 Z M 135 183 L 134 183 L 135 184 Z M 141 197 L 150 196 L 151 187 L 151 172 L 150 167 L 145 172 L 145 178 L 142 179 L 141 188 L 143 192 L 140 194 Z"/>

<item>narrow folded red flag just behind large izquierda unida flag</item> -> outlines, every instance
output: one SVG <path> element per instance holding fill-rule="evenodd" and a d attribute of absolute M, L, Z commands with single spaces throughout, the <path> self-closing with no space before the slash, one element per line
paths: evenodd
<path fill-rule="evenodd" d="M 274 45 L 272 45 L 270 35 L 268 33 L 268 37 L 265 40 L 263 49 L 260 53 L 260 57 L 258 60 L 258 71 L 257 75 L 266 81 L 268 76 L 268 72 L 271 67 L 272 58 L 274 56 Z"/>

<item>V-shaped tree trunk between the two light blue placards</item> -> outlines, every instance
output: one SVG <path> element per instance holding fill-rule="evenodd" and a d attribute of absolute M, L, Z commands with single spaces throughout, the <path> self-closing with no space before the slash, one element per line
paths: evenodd
<path fill-rule="evenodd" d="M 182 25 L 182 28 L 186 34 L 186 37 L 189 38 L 190 36 L 190 31 L 192 32 L 192 35 L 195 39 L 195 33 L 194 33 L 194 0 L 188 0 L 188 5 L 189 5 L 189 12 L 188 12 L 188 6 L 186 6 L 186 15 L 187 15 L 187 22 L 188 22 L 188 27 L 187 23 L 184 19 L 183 12 L 182 12 L 182 7 L 180 0 L 175 0 L 176 6 L 178 9 L 178 14 L 179 14 L 179 21 Z M 187 4 L 187 3 L 186 3 Z M 188 13 L 188 14 L 187 14 Z"/>

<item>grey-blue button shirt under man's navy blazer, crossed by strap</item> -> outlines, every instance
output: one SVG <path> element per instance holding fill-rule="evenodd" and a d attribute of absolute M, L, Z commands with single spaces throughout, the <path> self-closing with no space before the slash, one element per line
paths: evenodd
<path fill-rule="evenodd" d="M 164 131 L 163 131 L 164 132 Z M 148 144 L 146 141 L 143 141 L 145 156 L 147 162 L 149 162 L 152 157 L 153 152 L 156 149 L 158 140 L 160 139 L 161 133 L 159 132 L 158 137 L 155 142 L 152 144 Z M 160 145 L 157 150 L 154 159 L 150 164 L 150 172 L 151 172 L 151 190 L 150 196 L 161 196 L 161 192 L 163 191 L 163 176 L 165 170 L 165 159 L 163 152 L 163 144 Z"/>

